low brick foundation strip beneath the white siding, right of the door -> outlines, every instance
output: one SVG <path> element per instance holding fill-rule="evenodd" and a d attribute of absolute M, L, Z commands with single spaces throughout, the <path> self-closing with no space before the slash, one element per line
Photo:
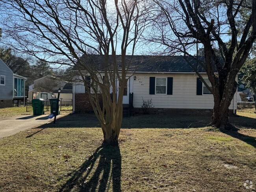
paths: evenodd
<path fill-rule="evenodd" d="M 133 114 L 143 114 L 142 108 L 134 108 Z M 150 114 L 190 114 L 190 115 L 212 115 L 213 109 L 168 109 L 153 108 Z M 233 114 L 233 109 L 229 109 L 229 114 Z M 235 110 L 236 114 L 236 110 Z"/>

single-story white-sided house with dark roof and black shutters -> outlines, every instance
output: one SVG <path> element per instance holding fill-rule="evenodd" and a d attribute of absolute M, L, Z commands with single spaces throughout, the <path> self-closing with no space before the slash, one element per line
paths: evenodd
<path fill-rule="evenodd" d="M 97 57 L 100 56 L 94 55 L 93 61 L 96 66 L 100 66 L 100 59 Z M 127 57 L 130 59 L 130 56 Z M 183 56 L 133 56 L 133 58 L 123 96 L 123 104 L 128 105 L 131 104 L 133 93 L 133 106 L 130 106 L 133 107 L 133 113 L 142 113 L 143 99 L 152 99 L 154 105 L 152 113 L 213 113 L 213 95 Z M 203 61 L 204 57 L 199 59 Z M 187 60 L 197 66 L 195 59 L 187 57 Z M 211 87 L 203 68 L 199 67 L 198 71 Z M 75 112 L 93 112 L 83 82 L 74 82 L 73 96 Z M 234 94 L 229 107 L 230 113 L 236 113 L 236 108 L 237 94 Z"/>

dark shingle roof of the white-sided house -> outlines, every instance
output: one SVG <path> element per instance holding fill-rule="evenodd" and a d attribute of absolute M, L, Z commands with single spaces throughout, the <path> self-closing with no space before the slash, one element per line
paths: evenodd
<path fill-rule="evenodd" d="M 83 56 L 82 59 L 85 63 L 96 66 L 98 70 L 103 69 L 101 55 Z M 129 71 L 137 72 L 194 72 L 186 60 L 194 67 L 197 66 L 197 59 L 192 57 L 186 57 L 185 59 L 184 56 L 126 55 L 126 61 L 131 62 Z M 198 60 L 204 62 L 204 56 L 198 56 Z M 109 63 L 111 63 L 111 56 L 109 56 Z M 120 63 L 119 67 L 121 67 L 121 55 L 117 55 L 117 63 Z M 76 70 L 76 68 L 73 68 L 73 70 Z M 198 72 L 205 72 L 199 63 Z"/>

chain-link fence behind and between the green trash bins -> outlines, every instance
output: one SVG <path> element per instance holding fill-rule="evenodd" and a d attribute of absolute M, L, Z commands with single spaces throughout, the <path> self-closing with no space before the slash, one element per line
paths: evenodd
<path fill-rule="evenodd" d="M 50 100 L 44 100 L 44 111 L 51 111 Z M 73 109 L 72 99 L 59 99 L 59 111 L 72 111 Z M 33 113 L 32 100 L 27 100 L 26 111 Z"/>

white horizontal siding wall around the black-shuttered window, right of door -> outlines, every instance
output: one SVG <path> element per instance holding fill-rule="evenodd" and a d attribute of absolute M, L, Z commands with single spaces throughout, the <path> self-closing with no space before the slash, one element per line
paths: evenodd
<path fill-rule="evenodd" d="M 144 100 L 152 98 L 155 108 L 213 109 L 212 95 L 197 95 L 197 76 L 194 74 L 135 74 L 135 76 L 134 107 L 141 107 L 143 97 Z M 149 94 L 149 77 L 173 77 L 173 94 Z M 207 78 L 206 75 L 205 77 Z M 237 94 L 234 96 L 235 101 L 236 96 Z M 233 109 L 233 100 L 229 109 Z"/>

